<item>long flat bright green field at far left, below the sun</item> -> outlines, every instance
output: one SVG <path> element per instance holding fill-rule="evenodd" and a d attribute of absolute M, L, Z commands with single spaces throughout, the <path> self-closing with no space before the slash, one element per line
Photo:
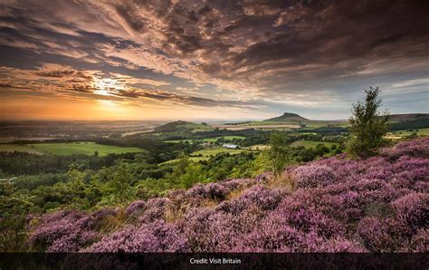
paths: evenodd
<path fill-rule="evenodd" d="M 74 143 L 35 143 L 27 145 L 2 144 L 0 151 L 22 151 L 30 153 L 51 153 L 54 155 L 84 154 L 93 155 L 95 151 L 99 156 L 108 154 L 122 154 L 128 152 L 141 152 L 143 149 L 136 147 L 119 147 L 111 145 L 101 145 L 95 142 L 74 142 Z"/>

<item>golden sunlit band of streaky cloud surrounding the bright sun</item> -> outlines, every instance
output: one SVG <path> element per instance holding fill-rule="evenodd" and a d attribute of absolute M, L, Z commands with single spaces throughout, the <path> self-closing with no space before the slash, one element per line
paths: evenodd
<path fill-rule="evenodd" d="M 257 108 L 249 102 L 222 101 L 180 95 L 140 86 L 162 86 L 168 82 L 138 79 L 120 73 L 104 73 L 92 70 L 76 70 L 71 66 L 44 63 L 36 70 L 0 67 L 0 91 L 20 90 L 32 94 L 44 92 L 57 97 L 100 99 L 111 101 L 153 100 L 167 102 L 170 106 L 188 105 L 202 107 Z"/>

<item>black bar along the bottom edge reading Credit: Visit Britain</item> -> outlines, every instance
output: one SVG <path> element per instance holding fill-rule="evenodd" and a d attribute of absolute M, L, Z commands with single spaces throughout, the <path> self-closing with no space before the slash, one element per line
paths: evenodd
<path fill-rule="evenodd" d="M 424 254 L 4 253 L 0 269 L 429 269 Z"/>

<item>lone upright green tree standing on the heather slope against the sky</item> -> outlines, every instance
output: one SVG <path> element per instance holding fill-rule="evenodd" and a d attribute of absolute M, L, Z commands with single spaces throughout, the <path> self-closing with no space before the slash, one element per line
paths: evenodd
<path fill-rule="evenodd" d="M 382 105 L 378 98 L 378 87 L 365 91 L 365 101 L 353 104 L 353 116 L 350 118 L 350 137 L 348 153 L 354 157 L 367 157 L 377 153 L 385 143 L 383 136 L 387 132 L 388 112 L 379 112 Z"/>

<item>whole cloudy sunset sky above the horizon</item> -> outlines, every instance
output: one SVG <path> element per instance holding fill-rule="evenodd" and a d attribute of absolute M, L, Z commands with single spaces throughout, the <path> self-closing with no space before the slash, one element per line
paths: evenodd
<path fill-rule="evenodd" d="M 0 120 L 429 112 L 427 1 L 0 0 Z"/>

